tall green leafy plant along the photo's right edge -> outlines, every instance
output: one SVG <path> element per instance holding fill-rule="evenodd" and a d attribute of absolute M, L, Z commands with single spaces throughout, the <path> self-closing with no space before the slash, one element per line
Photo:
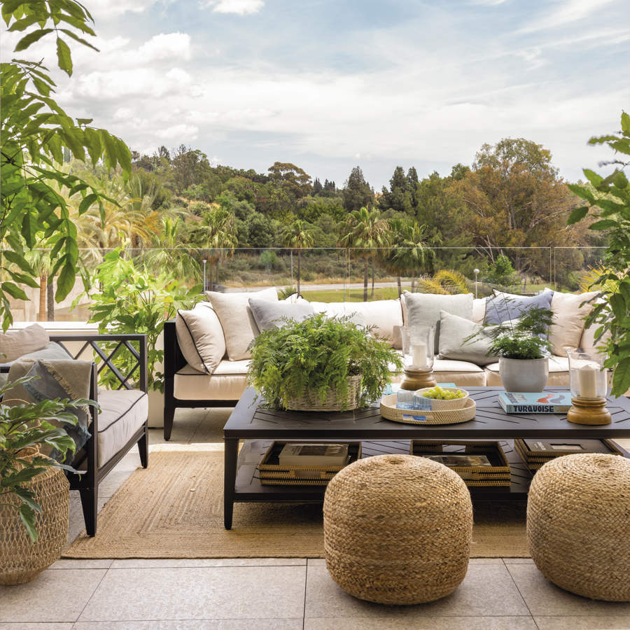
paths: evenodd
<path fill-rule="evenodd" d="M 630 116 L 626 112 L 621 127 L 618 134 L 591 138 L 589 144 L 607 144 L 617 154 L 630 155 Z M 616 158 L 607 164 L 615 165 L 615 170 L 606 177 L 584 169 L 593 188 L 569 186 L 588 205 L 575 209 L 568 223 L 588 215 L 595 219 L 589 228 L 608 235 L 603 267 L 589 287 L 598 294 L 586 326 L 596 326 L 595 340 L 602 341 L 601 349 L 608 353 L 604 365 L 612 370 L 612 393 L 621 396 L 630 389 L 630 184 L 624 174 L 630 160 Z"/>

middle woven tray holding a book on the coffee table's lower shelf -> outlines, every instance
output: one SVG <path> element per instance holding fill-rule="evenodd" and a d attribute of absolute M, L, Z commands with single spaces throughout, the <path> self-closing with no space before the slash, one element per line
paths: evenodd
<path fill-rule="evenodd" d="M 510 486 L 510 463 L 499 442 L 412 440 L 411 454 L 444 464 L 469 487 Z"/>

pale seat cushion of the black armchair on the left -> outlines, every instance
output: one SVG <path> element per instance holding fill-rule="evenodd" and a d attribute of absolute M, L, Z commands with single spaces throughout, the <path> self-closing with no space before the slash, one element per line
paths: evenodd
<path fill-rule="evenodd" d="M 99 390 L 99 462 L 101 468 L 146 422 L 148 396 L 139 389 Z"/>

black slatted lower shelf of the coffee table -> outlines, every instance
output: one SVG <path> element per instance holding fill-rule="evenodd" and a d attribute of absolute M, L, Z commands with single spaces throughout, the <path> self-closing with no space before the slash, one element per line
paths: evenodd
<path fill-rule="evenodd" d="M 471 487 L 473 500 L 526 500 L 531 472 L 514 450 L 513 440 L 499 440 L 510 462 L 510 486 Z M 256 466 L 272 440 L 245 440 L 239 452 L 231 503 L 321 503 L 326 486 L 268 486 L 260 483 Z M 374 440 L 362 442 L 363 457 L 389 453 L 409 454 L 409 440 Z M 232 510 L 226 511 L 225 527 L 232 526 Z"/>

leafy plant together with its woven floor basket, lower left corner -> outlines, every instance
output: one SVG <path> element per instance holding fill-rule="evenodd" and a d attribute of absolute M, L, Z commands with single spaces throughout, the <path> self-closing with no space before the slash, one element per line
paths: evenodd
<path fill-rule="evenodd" d="M 68 538 L 69 482 L 62 468 L 75 451 L 61 427 L 76 424 L 69 409 L 90 400 L 10 399 L 10 390 L 33 377 L 0 388 L 0 584 L 33 580 L 59 558 Z M 10 399 L 10 400 L 9 400 Z M 8 404 L 10 402 L 11 404 Z M 41 454 L 52 449 L 59 461 Z"/>

